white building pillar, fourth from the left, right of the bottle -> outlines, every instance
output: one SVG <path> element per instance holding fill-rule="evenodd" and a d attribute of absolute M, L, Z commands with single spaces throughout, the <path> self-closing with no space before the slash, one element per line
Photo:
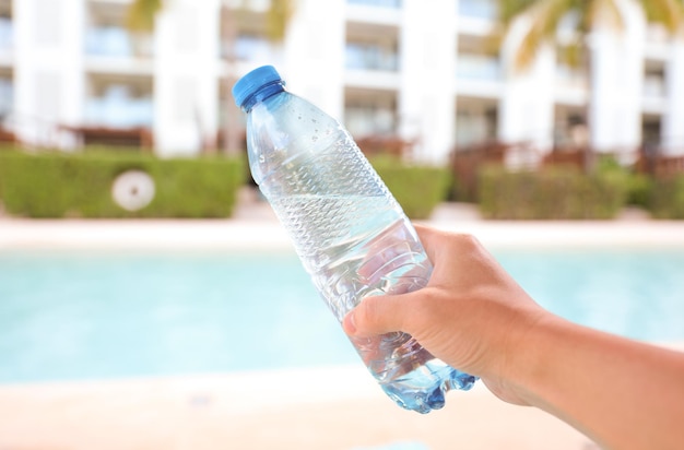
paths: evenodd
<path fill-rule="evenodd" d="M 445 163 L 453 145 L 456 14 L 453 1 L 403 1 L 399 133 L 427 163 Z"/>

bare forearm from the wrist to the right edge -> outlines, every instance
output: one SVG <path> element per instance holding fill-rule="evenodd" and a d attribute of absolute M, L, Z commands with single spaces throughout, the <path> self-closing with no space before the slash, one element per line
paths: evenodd
<path fill-rule="evenodd" d="M 609 449 L 684 448 L 684 355 L 552 319 L 531 332 L 521 395 Z"/>

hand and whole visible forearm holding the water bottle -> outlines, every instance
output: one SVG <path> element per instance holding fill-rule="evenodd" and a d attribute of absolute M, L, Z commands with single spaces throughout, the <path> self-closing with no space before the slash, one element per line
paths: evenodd
<path fill-rule="evenodd" d="M 342 322 L 352 339 L 412 334 L 502 400 L 541 407 L 604 448 L 684 448 L 684 354 L 554 316 L 472 236 L 416 230 L 429 283 L 364 298 Z"/>

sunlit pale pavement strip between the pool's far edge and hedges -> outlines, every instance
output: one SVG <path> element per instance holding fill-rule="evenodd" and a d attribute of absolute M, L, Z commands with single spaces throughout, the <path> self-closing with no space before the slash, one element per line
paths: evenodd
<path fill-rule="evenodd" d="M 431 224 L 485 246 L 684 246 L 684 221 L 625 210 L 613 221 L 483 221 L 476 206 L 444 203 Z M 0 250 L 19 248 L 292 249 L 269 204 L 251 191 L 228 220 L 25 220 L 0 215 Z"/>

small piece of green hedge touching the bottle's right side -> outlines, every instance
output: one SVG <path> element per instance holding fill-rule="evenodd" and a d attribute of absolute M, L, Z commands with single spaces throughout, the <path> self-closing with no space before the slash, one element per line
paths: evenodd
<path fill-rule="evenodd" d="M 447 168 L 408 165 L 389 156 L 373 157 L 370 164 L 411 218 L 429 217 L 435 206 L 446 200 Z"/>

